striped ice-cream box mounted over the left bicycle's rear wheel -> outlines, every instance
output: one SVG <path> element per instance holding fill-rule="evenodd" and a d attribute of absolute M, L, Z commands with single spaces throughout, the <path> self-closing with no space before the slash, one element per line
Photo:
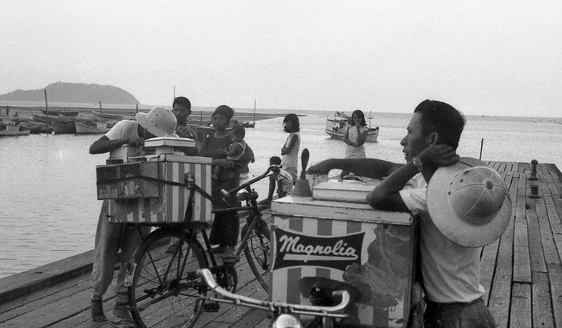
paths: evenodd
<path fill-rule="evenodd" d="M 188 140 L 186 144 L 195 145 L 195 142 Z M 150 144 L 149 140 L 145 142 L 145 147 L 147 143 Z M 127 163 L 96 167 L 98 199 L 107 199 L 110 202 L 110 222 L 183 222 L 190 189 L 174 183 L 184 184 L 185 175 L 188 173 L 194 175 L 195 184 L 211 194 L 211 158 L 183 156 L 181 151 L 174 151 L 167 143 L 169 141 L 163 143 L 160 138 L 155 144 L 155 154 L 129 156 L 130 153 L 123 152 L 124 161 Z M 162 149 L 169 153 L 164 153 Z M 198 191 L 194 193 L 192 221 L 211 220 L 211 200 Z"/>

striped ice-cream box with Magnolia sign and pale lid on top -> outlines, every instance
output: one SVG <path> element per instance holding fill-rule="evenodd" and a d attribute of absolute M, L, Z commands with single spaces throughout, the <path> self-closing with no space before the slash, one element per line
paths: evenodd
<path fill-rule="evenodd" d="M 347 323 L 406 327 L 417 217 L 367 205 L 376 184 L 329 180 L 314 187 L 313 197 L 273 201 L 271 301 L 310 303 L 311 283 L 345 282 L 360 292 Z"/>

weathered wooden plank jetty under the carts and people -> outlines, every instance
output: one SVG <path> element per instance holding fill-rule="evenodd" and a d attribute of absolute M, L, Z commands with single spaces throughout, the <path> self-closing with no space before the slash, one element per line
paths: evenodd
<path fill-rule="evenodd" d="M 529 163 L 488 164 L 504 177 L 513 206 L 507 230 L 482 252 L 488 308 L 497 327 L 562 328 L 562 173 L 539 164 L 533 180 Z M 0 327 L 112 327 L 90 320 L 91 258 L 92 251 L 85 252 L 0 279 Z M 236 270 L 238 293 L 267 299 L 244 257 Z M 112 287 L 106 296 L 111 320 Z M 259 310 L 221 304 L 218 313 L 203 313 L 197 327 L 269 324 Z"/>

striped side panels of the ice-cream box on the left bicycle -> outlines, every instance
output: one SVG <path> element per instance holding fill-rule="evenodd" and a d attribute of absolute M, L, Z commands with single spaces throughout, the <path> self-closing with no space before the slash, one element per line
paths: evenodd
<path fill-rule="evenodd" d="M 159 179 L 171 182 L 184 182 L 186 173 L 195 175 L 195 183 L 211 194 L 210 163 L 186 163 L 159 161 Z M 183 222 L 188 207 L 190 189 L 184 186 L 159 184 L 159 197 L 128 200 L 110 200 L 110 222 L 177 224 Z M 201 193 L 193 191 L 193 212 L 190 221 L 211 220 L 211 200 Z"/>

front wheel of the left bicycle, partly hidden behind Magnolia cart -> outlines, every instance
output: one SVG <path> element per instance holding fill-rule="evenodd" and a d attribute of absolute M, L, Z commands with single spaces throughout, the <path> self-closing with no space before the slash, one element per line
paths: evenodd
<path fill-rule="evenodd" d="M 242 236 L 246 235 L 248 225 L 242 228 Z M 251 231 L 251 235 L 244 245 L 244 255 L 248 260 L 251 272 L 254 273 L 261 287 L 269 293 L 269 250 L 270 232 L 265 222 L 258 223 L 256 229 Z"/>

